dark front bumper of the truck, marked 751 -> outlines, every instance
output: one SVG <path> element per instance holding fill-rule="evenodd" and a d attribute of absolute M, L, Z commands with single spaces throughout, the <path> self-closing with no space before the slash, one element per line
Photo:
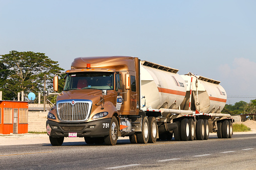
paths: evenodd
<path fill-rule="evenodd" d="M 111 118 L 87 123 L 58 123 L 47 120 L 46 128 L 47 134 L 52 137 L 68 137 L 68 133 L 77 133 L 77 137 L 104 137 L 109 135 L 110 123 Z"/>

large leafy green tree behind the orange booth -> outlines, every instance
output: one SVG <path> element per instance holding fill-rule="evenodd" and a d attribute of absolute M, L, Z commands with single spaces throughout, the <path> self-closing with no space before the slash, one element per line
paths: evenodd
<path fill-rule="evenodd" d="M 37 93 L 44 89 L 44 76 L 46 76 L 46 89 L 52 89 L 53 76 L 63 71 L 58 62 L 49 59 L 44 53 L 17 52 L 1 55 L 0 63 L 8 69 L 5 85 L 2 88 L 11 94 L 6 98 L 13 100 L 18 92 Z M 51 90 L 50 90 L 51 91 Z"/>

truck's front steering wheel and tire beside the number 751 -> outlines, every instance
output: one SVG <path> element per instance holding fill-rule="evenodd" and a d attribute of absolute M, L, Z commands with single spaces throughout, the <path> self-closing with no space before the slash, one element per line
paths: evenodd
<path fill-rule="evenodd" d="M 104 142 L 107 145 L 116 145 L 117 144 L 118 129 L 119 129 L 119 126 L 118 126 L 117 118 L 114 116 L 111 119 L 109 135 L 104 137 Z"/>

